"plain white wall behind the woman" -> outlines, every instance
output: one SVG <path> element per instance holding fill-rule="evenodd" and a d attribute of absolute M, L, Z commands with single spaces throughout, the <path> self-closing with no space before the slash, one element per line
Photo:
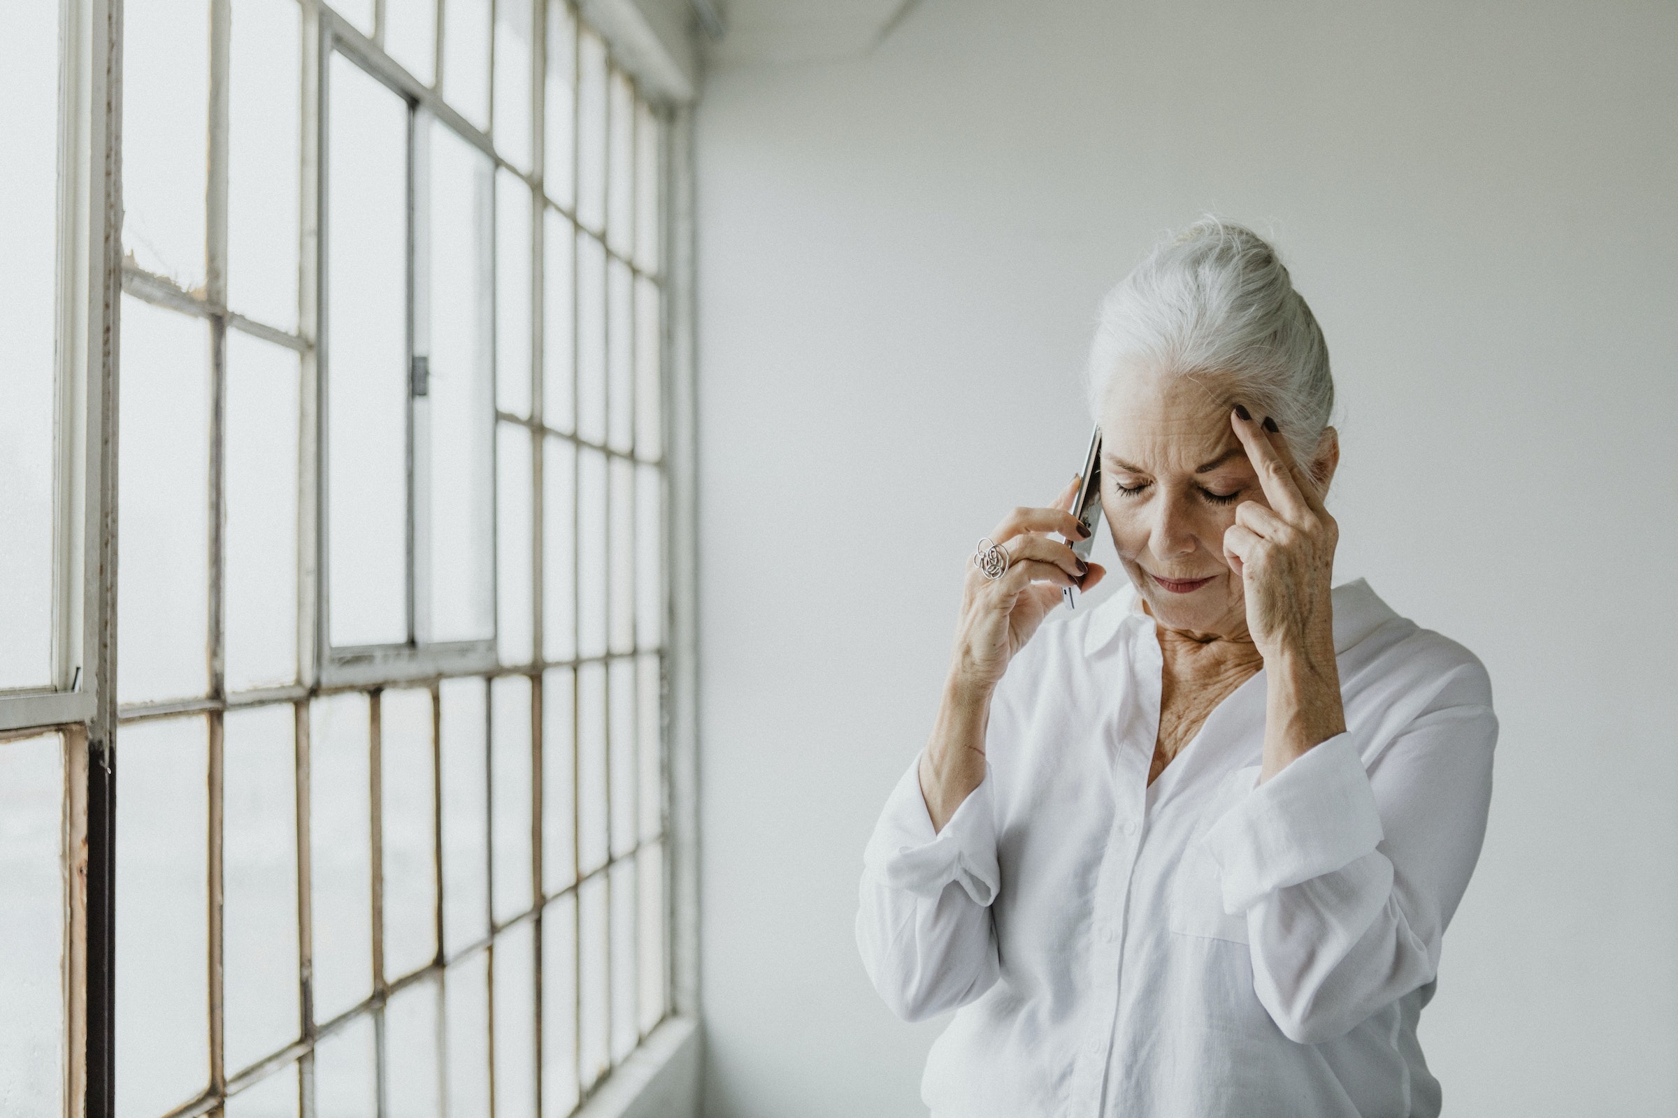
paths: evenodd
<path fill-rule="evenodd" d="M 961 563 L 1087 437 L 1092 312 L 1275 235 L 1342 401 L 1342 577 L 1487 662 L 1453 1115 L 1678 1096 L 1678 7 L 925 0 L 698 112 L 703 997 L 718 1118 L 923 1113 L 852 944 Z"/>

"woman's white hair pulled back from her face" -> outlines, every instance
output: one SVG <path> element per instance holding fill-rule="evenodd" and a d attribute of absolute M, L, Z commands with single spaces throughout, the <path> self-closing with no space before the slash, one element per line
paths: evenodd
<path fill-rule="evenodd" d="M 1275 419 L 1300 463 L 1334 411 L 1329 347 L 1275 248 L 1217 218 L 1156 245 L 1102 300 L 1086 369 L 1092 416 L 1131 362 L 1222 380 L 1232 404 Z"/>

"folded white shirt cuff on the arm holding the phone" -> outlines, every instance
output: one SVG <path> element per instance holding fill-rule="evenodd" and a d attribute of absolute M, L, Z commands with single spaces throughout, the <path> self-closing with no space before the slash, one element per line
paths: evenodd
<path fill-rule="evenodd" d="M 933 831 L 918 769 L 920 759 L 891 791 L 869 843 L 869 863 L 891 888 L 936 900 L 950 882 L 958 882 L 973 903 L 988 905 L 1002 887 L 990 764 L 941 831 Z"/>

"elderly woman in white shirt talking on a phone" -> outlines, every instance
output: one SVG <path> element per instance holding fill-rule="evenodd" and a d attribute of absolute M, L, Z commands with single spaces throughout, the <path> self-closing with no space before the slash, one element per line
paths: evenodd
<path fill-rule="evenodd" d="M 1129 587 L 1020 508 L 970 570 L 931 739 L 868 846 L 857 940 L 956 1009 L 950 1118 L 1438 1115 L 1416 1039 L 1480 853 L 1485 669 L 1331 588 L 1322 332 L 1274 250 L 1201 221 L 1106 300 L 1101 506 Z"/>

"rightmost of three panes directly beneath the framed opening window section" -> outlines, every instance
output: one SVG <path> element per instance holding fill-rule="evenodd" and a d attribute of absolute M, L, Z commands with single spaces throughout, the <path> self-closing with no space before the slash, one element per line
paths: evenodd
<path fill-rule="evenodd" d="M 490 932 L 490 789 L 482 679 L 441 682 L 443 949 L 450 955 Z"/>

